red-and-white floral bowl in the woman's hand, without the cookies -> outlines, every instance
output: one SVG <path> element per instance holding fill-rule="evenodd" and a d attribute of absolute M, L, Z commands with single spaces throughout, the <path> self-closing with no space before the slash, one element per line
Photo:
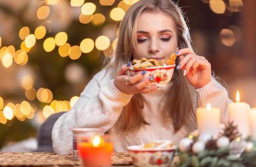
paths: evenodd
<path fill-rule="evenodd" d="M 146 70 L 146 74 L 139 81 L 147 79 L 148 77 L 154 77 L 153 81 L 148 83 L 148 85 L 145 87 L 150 87 L 153 84 L 157 84 L 157 83 L 159 84 L 159 87 L 162 87 L 162 86 L 166 86 L 171 81 L 174 68 L 175 68 L 175 64 L 147 67 L 147 68 L 134 68 L 134 66 L 132 66 L 131 68 L 129 68 L 129 72 L 130 72 L 130 76 L 134 76 Z"/>

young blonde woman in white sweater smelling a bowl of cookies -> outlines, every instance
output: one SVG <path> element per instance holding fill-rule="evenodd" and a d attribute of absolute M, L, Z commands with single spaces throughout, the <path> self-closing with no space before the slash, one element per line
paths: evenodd
<path fill-rule="evenodd" d="M 127 75 L 133 59 L 164 63 L 177 53 L 176 69 L 168 86 L 144 88 L 144 72 Z M 196 55 L 181 9 L 171 0 L 140 0 L 126 12 L 119 29 L 115 56 L 81 93 L 72 110 L 52 130 L 56 154 L 72 154 L 72 129 L 101 127 L 115 138 L 115 151 L 157 139 L 175 145 L 195 130 L 195 109 L 211 103 L 227 123 L 231 101 L 225 88 L 211 76 L 211 64 Z"/>

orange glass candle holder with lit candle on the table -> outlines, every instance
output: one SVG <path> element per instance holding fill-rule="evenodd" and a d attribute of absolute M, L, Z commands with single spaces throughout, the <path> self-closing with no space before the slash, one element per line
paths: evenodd
<path fill-rule="evenodd" d="M 83 167 L 110 167 L 114 143 L 112 135 L 80 136 L 77 150 Z"/>

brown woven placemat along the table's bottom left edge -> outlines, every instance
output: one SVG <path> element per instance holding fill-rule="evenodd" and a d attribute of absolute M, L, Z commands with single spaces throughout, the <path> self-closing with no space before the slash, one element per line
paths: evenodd
<path fill-rule="evenodd" d="M 112 156 L 112 165 L 132 165 L 130 154 L 128 152 L 115 152 Z M 61 156 L 51 152 L 0 153 L 0 166 L 62 167 L 81 166 L 81 162 L 73 158 L 73 155 Z"/>

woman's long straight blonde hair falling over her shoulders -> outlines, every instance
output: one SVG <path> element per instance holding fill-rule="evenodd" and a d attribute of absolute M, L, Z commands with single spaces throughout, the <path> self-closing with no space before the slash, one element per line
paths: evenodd
<path fill-rule="evenodd" d="M 143 12 L 164 12 L 173 18 L 177 30 L 177 42 L 179 48 L 191 48 L 191 38 L 185 16 L 180 7 L 171 0 L 140 0 L 133 4 L 126 12 L 119 28 L 118 42 L 115 56 L 112 57 L 106 67 L 114 68 L 114 76 L 122 65 L 132 61 L 132 51 L 137 45 L 137 22 Z M 176 59 L 176 65 L 179 64 Z M 183 125 L 188 125 L 189 119 L 195 120 L 195 113 L 191 99 L 191 89 L 194 89 L 182 75 L 181 70 L 174 70 L 171 79 L 171 87 L 162 99 L 165 106 L 162 116 L 166 126 L 170 123 L 174 132 L 180 130 Z M 175 90 L 175 91 L 173 91 Z M 165 101 L 164 101 L 165 100 Z M 120 130 L 128 132 L 139 129 L 143 125 L 149 125 L 144 119 L 142 109 L 144 99 L 141 94 L 134 94 L 128 105 L 123 108 L 118 123 Z M 160 108 L 159 108 L 160 109 Z"/>

